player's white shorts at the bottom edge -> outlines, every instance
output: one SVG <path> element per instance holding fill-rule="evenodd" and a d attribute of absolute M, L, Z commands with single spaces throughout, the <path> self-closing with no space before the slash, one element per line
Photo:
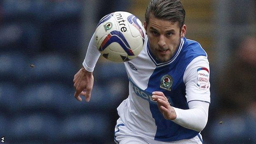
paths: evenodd
<path fill-rule="evenodd" d="M 182 139 L 174 142 L 161 142 L 142 135 L 136 135 L 123 124 L 120 118 L 115 126 L 114 141 L 116 144 L 203 144 L 200 133 L 191 139 Z"/>

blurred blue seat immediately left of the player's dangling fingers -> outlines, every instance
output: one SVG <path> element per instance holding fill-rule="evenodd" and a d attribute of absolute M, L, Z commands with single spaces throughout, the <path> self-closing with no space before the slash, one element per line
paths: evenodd
<path fill-rule="evenodd" d="M 28 85 L 24 87 L 23 94 L 16 102 L 17 111 L 47 111 L 59 114 L 59 110 L 64 106 L 65 98 L 70 93 L 68 89 L 69 87 L 59 83 Z"/>

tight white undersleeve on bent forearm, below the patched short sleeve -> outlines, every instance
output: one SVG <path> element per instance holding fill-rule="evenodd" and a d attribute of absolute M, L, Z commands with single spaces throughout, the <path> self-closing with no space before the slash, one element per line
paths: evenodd
<path fill-rule="evenodd" d="M 208 110 L 210 103 L 204 101 L 191 101 L 188 103 L 190 109 L 183 110 L 174 107 L 176 119 L 173 121 L 185 128 L 202 131 L 208 121 Z"/>

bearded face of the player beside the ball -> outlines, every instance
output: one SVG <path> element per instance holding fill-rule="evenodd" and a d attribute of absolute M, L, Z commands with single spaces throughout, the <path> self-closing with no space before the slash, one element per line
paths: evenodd
<path fill-rule="evenodd" d="M 183 25 L 180 30 L 178 22 L 172 23 L 151 16 L 149 23 L 144 23 L 144 27 L 153 55 L 160 62 L 168 62 L 180 44 L 181 37 L 185 36 L 186 25 Z"/>

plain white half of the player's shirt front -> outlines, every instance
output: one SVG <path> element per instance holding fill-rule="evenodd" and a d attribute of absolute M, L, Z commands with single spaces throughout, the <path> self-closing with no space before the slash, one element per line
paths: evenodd
<path fill-rule="evenodd" d="M 145 39 L 145 42 L 146 41 L 147 37 Z M 152 61 L 149 61 L 150 58 L 146 51 L 146 46 L 147 43 L 144 44 L 143 50 L 138 57 L 125 62 L 126 71 L 130 81 L 135 83 L 136 86 L 142 90 L 147 88 L 149 78 L 156 68 L 155 64 Z M 132 69 L 130 64 L 137 70 Z M 135 91 L 139 91 L 139 89 L 135 88 Z M 155 119 L 153 119 L 150 111 L 149 102 L 137 96 L 135 91 L 133 85 L 130 83 L 128 98 L 117 108 L 119 116 L 126 123 L 126 126 L 133 130 L 134 133 L 152 139 L 152 136 L 156 133 L 156 125 Z M 151 98 L 146 95 L 144 96 L 145 98 Z"/>

